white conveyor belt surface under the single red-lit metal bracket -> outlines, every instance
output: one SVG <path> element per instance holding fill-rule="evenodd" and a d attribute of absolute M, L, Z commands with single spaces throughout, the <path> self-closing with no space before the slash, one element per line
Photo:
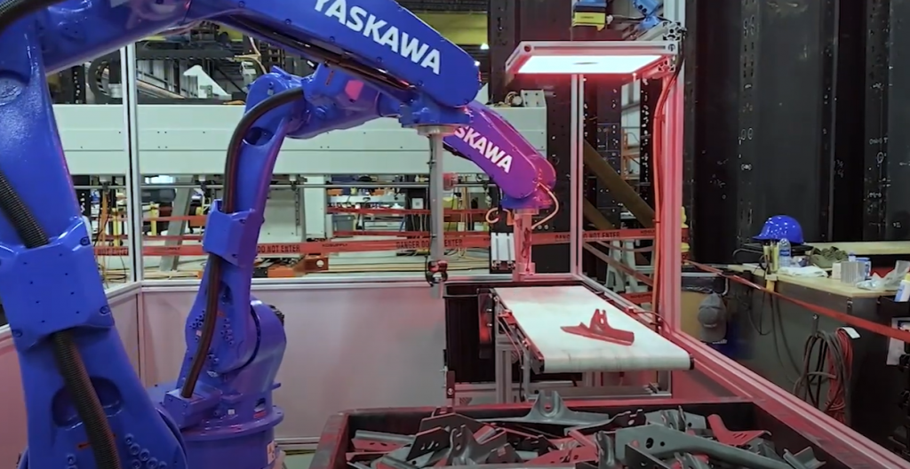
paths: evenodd
<path fill-rule="evenodd" d="M 687 352 L 583 286 L 497 288 L 521 332 L 537 348 L 546 373 L 688 370 Z M 562 326 L 588 325 L 605 311 L 614 329 L 632 331 L 631 345 L 569 334 Z"/>

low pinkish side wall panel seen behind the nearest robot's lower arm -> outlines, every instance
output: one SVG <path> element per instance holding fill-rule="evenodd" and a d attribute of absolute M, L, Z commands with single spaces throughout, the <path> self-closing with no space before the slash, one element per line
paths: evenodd
<path fill-rule="evenodd" d="M 138 321 L 136 305 L 138 285 L 120 287 L 108 294 L 117 332 L 126 347 L 129 360 L 139 364 Z M 19 454 L 25 448 L 25 400 L 22 379 L 19 377 L 19 360 L 15 354 L 13 336 L 9 326 L 0 327 L 0 467 L 15 467 Z"/>

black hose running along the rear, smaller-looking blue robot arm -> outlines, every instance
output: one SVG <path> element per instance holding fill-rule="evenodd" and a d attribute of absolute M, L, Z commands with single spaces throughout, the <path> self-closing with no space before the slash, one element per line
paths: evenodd
<path fill-rule="evenodd" d="M 237 172 L 240 165 L 240 151 L 243 149 L 244 139 L 249 132 L 253 130 L 256 121 L 275 108 L 293 103 L 303 97 L 302 88 L 294 88 L 271 95 L 262 100 L 258 105 L 253 106 L 247 111 L 234 128 L 234 134 L 231 135 L 230 143 L 227 145 L 227 157 L 225 158 L 225 185 L 224 198 L 221 201 L 221 211 L 225 214 L 233 214 L 237 196 Z M 208 283 L 206 284 L 206 312 L 202 319 L 202 334 L 199 336 L 199 342 L 196 348 L 196 354 L 193 355 L 193 362 L 189 365 L 187 379 L 180 388 L 180 395 L 188 399 L 196 391 L 196 384 L 199 381 L 199 375 L 202 374 L 202 368 L 206 364 L 209 349 L 212 346 L 212 339 L 215 337 L 218 313 L 218 297 L 221 290 L 221 263 L 224 262 L 216 254 L 208 256 L 207 266 Z"/>

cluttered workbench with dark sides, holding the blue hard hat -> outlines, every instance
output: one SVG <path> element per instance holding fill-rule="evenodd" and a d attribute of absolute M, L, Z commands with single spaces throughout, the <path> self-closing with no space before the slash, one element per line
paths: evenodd
<path fill-rule="evenodd" d="M 841 244 L 838 248 L 842 248 Z M 761 269 L 743 265 L 730 265 L 728 269 L 756 284 L 764 282 Z M 878 303 L 880 296 L 894 292 L 863 290 L 830 278 L 788 275 L 778 275 L 775 288 L 790 298 L 890 324 L 890 318 L 880 317 Z M 737 343 L 734 347 L 737 356 L 733 358 L 787 391 L 793 390 L 802 371 L 806 338 L 816 330 L 833 332 L 845 325 L 741 284 L 731 283 L 728 297 L 733 321 L 738 326 L 733 334 Z M 857 332 L 860 337 L 854 340 L 852 426 L 876 443 L 885 444 L 891 429 L 899 424 L 897 400 L 903 384 L 895 367 L 885 365 L 887 339 L 862 330 Z M 875 385 L 855 385 L 871 383 Z"/>

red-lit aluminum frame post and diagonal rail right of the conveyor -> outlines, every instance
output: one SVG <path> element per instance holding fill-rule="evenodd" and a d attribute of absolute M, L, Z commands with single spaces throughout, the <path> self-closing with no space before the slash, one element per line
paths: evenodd
<path fill-rule="evenodd" d="M 599 45 L 600 44 L 600 45 Z M 621 43 L 629 45 L 630 43 Z M 632 43 L 634 44 L 634 43 Z M 534 47 L 534 45 L 541 45 Z M 533 51 L 549 51 L 547 54 L 591 55 L 592 48 L 600 48 L 603 55 L 616 50 L 615 43 L 521 43 L 507 61 L 507 74 L 514 75 L 521 64 L 528 60 Z M 645 45 L 633 45 L 642 50 Z M 630 50 L 630 49 L 626 49 Z M 693 357 L 695 368 L 714 382 L 723 385 L 734 394 L 740 395 L 759 405 L 765 412 L 775 415 L 795 431 L 814 441 L 826 451 L 834 453 L 837 446 L 847 451 L 837 451 L 839 459 L 850 467 L 910 468 L 910 463 L 884 447 L 873 443 L 863 435 L 835 421 L 814 406 L 804 403 L 793 394 L 771 384 L 757 374 L 747 370 L 729 358 L 718 354 L 707 344 L 685 334 L 681 329 L 682 313 L 682 122 L 683 94 L 682 75 L 676 76 L 675 83 L 667 96 L 664 109 L 665 125 L 662 129 L 662 145 L 656 165 L 661 171 L 657 189 L 661 197 L 654 207 L 656 226 L 655 249 L 660 250 L 665 262 L 657 265 L 656 273 L 662 282 L 656 292 L 659 314 L 662 318 L 661 333 L 681 346 Z M 575 157 L 576 155 L 572 155 Z M 634 305 L 630 305 L 635 307 Z M 642 311 L 642 310 L 639 310 Z M 678 381 L 678 380 L 674 380 Z M 673 386 L 673 394 L 682 391 Z M 685 394 L 685 393 L 680 393 Z M 672 400 L 672 399 L 671 399 Z M 652 401 L 650 401 L 652 402 Z"/>

